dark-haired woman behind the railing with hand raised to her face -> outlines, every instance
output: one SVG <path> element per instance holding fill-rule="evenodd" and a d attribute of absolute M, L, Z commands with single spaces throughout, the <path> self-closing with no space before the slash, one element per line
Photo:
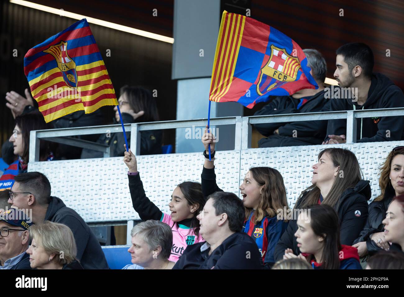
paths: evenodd
<path fill-rule="evenodd" d="M 156 122 L 160 120 L 157 110 L 156 99 L 151 92 L 141 86 L 123 86 L 120 89 L 118 99 L 119 109 L 124 124 Z M 120 124 L 118 107 L 114 107 L 114 124 Z M 154 155 L 161 154 L 162 130 L 140 131 L 140 154 Z M 126 138 L 130 143 L 130 131 L 126 131 Z M 98 143 L 109 145 L 112 157 L 119 157 L 124 154 L 125 138 L 123 133 L 105 133 L 99 137 Z M 102 158 L 103 153 L 90 149 L 83 149 L 81 158 Z"/>

